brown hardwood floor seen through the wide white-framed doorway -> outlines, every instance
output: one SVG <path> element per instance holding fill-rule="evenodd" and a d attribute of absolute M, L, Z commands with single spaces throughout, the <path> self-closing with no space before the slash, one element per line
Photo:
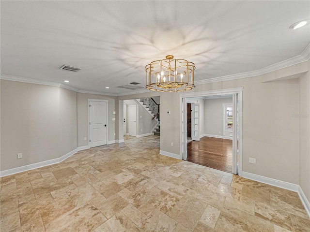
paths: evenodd
<path fill-rule="evenodd" d="M 224 172 L 233 171 L 233 140 L 202 137 L 187 144 L 187 161 Z"/>

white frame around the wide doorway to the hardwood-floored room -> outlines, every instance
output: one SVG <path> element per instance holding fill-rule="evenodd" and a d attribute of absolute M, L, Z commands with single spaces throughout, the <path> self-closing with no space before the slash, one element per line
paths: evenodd
<path fill-rule="evenodd" d="M 237 151 L 236 146 L 233 145 L 233 173 L 238 173 L 239 176 L 242 176 L 242 91 L 243 87 L 238 88 L 227 88 L 227 89 L 217 89 L 217 90 L 208 90 L 201 92 L 189 92 L 182 93 L 179 95 L 180 100 L 180 159 L 184 159 L 187 156 L 187 143 L 186 143 L 186 98 L 194 97 L 204 97 L 204 96 L 220 96 L 220 95 L 233 95 L 233 105 L 237 101 L 236 96 L 238 97 L 239 104 L 239 149 Z M 237 118 L 234 117 L 233 123 L 236 124 Z M 236 142 L 236 127 L 234 127 L 234 136 L 233 144 Z M 236 154 L 239 155 L 239 163 L 236 163 Z"/>

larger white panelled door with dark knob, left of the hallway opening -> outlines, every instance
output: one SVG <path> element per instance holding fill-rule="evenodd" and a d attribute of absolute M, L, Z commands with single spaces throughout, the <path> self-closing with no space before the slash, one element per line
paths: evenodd
<path fill-rule="evenodd" d="M 90 147 L 107 144 L 108 102 L 90 101 Z"/>

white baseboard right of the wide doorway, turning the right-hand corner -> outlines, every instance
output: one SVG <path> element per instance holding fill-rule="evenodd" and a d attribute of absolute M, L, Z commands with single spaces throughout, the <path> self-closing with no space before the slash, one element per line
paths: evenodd
<path fill-rule="evenodd" d="M 284 188 L 284 189 L 297 192 L 301 202 L 303 203 L 308 213 L 308 216 L 310 217 L 310 203 L 299 185 L 288 183 L 288 182 L 281 181 L 281 180 L 272 179 L 272 178 L 265 177 L 262 175 L 251 174 L 247 172 L 242 172 L 242 177 L 250 179 L 250 180 L 255 180 L 255 181 L 258 181 L 264 184 L 268 184 L 268 185 L 272 185 L 272 186 L 276 186 L 279 188 Z"/>

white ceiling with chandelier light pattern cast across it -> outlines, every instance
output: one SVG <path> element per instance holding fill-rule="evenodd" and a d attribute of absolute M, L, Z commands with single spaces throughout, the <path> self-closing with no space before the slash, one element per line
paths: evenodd
<path fill-rule="evenodd" d="M 310 49 L 309 24 L 289 29 L 310 19 L 309 0 L 1 0 L 0 7 L 1 79 L 81 92 L 147 91 L 145 65 L 166 55 L 194 62 L 199 84 L 290 65 Z M 60 70 L 64 64 L 81 71 Z M 118 88 L 130 82 L 141 89 Z"/>

